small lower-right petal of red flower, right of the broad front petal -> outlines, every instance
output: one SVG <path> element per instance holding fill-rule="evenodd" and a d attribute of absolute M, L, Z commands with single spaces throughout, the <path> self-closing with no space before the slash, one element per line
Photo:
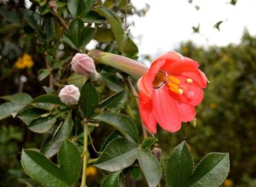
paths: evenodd
<path fill-rule="evenodd" d="M 182 122 L 192 121 L 195 119 L 195 107 L 186 103 L 176 102 L 178 112 L 180 114 L 180 120 Z"/>

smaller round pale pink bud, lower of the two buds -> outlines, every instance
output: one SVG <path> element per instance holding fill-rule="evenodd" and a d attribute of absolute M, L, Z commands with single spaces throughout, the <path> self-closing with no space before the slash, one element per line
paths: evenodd
<path fill-rule="evenodd" d="M 74 105 L 78 102 L 80 98 L 79 89 L 71 85 L 66 85 L 64 88 L 61 89 L 58 97 L 60 97 L 61 101 L 68 106 Z"/>

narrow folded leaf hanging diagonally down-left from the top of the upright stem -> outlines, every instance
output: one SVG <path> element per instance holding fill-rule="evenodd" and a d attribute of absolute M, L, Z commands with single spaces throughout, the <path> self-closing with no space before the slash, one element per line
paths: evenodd
<path fill-rule="evenodd" d="M 45 145 L 43 145 L 41 152 L 44 153 L 47 158 L 51 158 L 53 155 L 58 153 L 58 149 L 61 147 L 61 143 L 63 140 L 65 140 L 65 138 L 70 136 L 73 126 L 74 123 L 72 121 L 72 114 L 69 112 L 61 129 L 58 131 L 56 136 L 50 140 L 50 142 L 47 142 Z"/>

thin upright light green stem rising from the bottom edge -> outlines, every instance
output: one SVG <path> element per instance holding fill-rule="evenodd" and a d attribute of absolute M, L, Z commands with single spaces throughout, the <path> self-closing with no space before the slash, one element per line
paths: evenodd
<path fill-rule="evenodd" d="M 87 122 L 83 125 L 83 173 L 82 173 L 82 182 L 81 187 L 86 186 L 86 167 L 87 167 L 87 145 L 88 145 L 88 131 L 87 131 Z"/>

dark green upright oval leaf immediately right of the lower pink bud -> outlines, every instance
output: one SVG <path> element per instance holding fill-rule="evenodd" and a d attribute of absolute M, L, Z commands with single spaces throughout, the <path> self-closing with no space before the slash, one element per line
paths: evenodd
<path fill-rule="evenodd" d="M 87 118 L 94 114 L 98 105 L 98 92 L 91 82 L 86 82 L 81 89 L 81 101 L 79 103 L 83 115 Z"/>

